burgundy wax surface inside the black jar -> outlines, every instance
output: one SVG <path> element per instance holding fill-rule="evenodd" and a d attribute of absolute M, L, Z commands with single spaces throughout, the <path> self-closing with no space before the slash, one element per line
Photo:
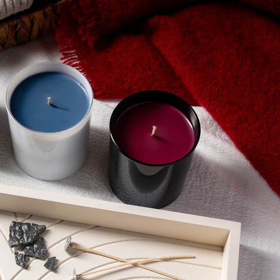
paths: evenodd
<path fill-rule="evenodd" d="M 153 126 L 156 131 L 151 136 Z M 187 117 L 174 106 L 161 102 L 143 102 L 126 109 L 115 123 L 113 137 L 125 154 L 149 164 L 176 161 L 195 142 Z"/>

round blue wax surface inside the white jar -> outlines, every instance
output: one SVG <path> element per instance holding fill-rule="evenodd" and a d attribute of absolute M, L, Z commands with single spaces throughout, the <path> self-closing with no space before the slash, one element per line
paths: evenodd
<path fill-rule="evenodd" d="M 51 97 L 51 104 L 48 104 Z M 60 72 L 27 77 L 15 88 L 10 110 L 23 126 L 40 132 L 58 132 L 76 125 L 90 106 L 85 88 Z"/>

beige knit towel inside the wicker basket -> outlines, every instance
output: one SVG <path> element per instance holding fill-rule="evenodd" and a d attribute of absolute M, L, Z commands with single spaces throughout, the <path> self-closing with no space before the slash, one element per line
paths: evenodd
<path fill-rule="evenodd" d="M 0 0 L 0 20 L 29 9 L 33 0 Z"/>

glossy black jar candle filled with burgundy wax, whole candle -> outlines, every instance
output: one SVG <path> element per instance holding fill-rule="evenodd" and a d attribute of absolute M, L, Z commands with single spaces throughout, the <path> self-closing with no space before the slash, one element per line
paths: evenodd
<path fill-rule="evenodd" d="M 176 112 L 178 120 L 172 117 Z M 191 141 L 186 134 L 188 127 Z M 138 92 L 116 106 L 109 128 L 109 183 L 117 197 L 126 204 L 151 208 L 175 201 L 185 185 L 200 138 L 200 122 L 192 107 L 171 93 Z"/>

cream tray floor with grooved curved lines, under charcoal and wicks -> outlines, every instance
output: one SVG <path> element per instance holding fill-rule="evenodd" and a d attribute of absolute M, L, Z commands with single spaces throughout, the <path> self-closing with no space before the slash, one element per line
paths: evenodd
<path fill-rule="evenodd" d="M 25 269 L 15 263 L 14 250 L 22 253 L 23 247 L 10 248 L 8 245 L 9 226 L 12 220 L 35 222 L 46 225 L 41 234 L 48 249 L 47 256 L 42 259 L 31 258 Z M 68 222 L 31 215 L 0 211 L 0 279 L 1 280 L 70 280 L 73 269 L 84 273 L 100 269 L 118 262 L 68 247 L 64 244 L 68 236 L 76 244 L 95 248 L 105 253 L 126 259 L 150 258 L 167 255 L 194 255 L 195 259 L 179 259 L 156 261 L 149 266 L 174 274 L 184 279 L 220 279 L 222 247 L 200 244 L 180 239 L 153 236 L 135 232 L 95 227 L 82 223 Z M 54 271 L 44 267 L 48 257 L 57 257 Z M 160 274 L 135 267 L 99 272 L 80 278 L 81 280 L 122 280 L 122 279 L 169 279 Z"/>

